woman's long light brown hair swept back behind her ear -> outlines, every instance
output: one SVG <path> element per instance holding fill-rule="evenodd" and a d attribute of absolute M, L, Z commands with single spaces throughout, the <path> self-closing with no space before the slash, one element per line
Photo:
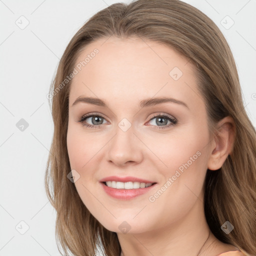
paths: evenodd
<path fill-rule="evenodd" d="M 233 55 L 219 28 L 200 10 L 179 0 L 114 3 L 89 18 L 72 37 L 49 93 L 56 91 L 72 72 L 86 45 L 110 36 L 156 41 L 185 56 L 196 70 L 209 130 L 213 132 L 223 117 L 233 118 L 232 151 L 221 168 L 206 172 L 204 213 L 217 239 L 236 246 L 245 255 L 256 253 L 256 134 L 243 107 Z M 71 170 L 66 145 L 71 81 L 53 93 L 49 102 L 54 132 L 44 181 L 47 197 L 56 210 L 57 247 L 59 251 L 63 249 L 64 255 L 71 252 L 91 256 L 100 246 L 104 255 L 119 256 L 116 232 L 107 230 L 94 218 L 67 178 Z M 220 228 L 226 220 L 234 226 L 228 234 Z"/>

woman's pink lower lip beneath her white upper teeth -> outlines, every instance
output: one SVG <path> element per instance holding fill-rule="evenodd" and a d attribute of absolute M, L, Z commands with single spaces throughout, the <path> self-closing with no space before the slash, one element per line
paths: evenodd
<path fill-rule="evenodd" d="M 129 200 L 129 199 L 132 199 L 140 194 L 144 194 L 156 185 L 156 183 L 155 183 L 151 186 L 144 187 L 144 188 L 133 188 L 133 189 L 120 188 L 120 189 L 118 189 L 118 188 L 109 187 L 109 186 L 105 185 L 103 182 L 100 182 L 100 184 L 102 185 L 104 191 L 108 195 L 110 195 L 116 199 L 122 199 L 122 200 Z"/>

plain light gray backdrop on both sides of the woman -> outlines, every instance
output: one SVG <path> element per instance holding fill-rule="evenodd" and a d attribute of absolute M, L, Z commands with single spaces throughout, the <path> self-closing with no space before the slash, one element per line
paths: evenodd
<path fill-rule="evenodd" d="M 92 14 L 114 2 L 0 0 L 0 256 L 60 255 L 55 212 L 43 185 L 53 133 L 46 94 L 71 37 Z M 185 2 L 208 15 L 225 35 L 255 126 L 256 0 Z M 229 29 L 227 15 L 234 21 Z M 21 118 L 29 124 L 23 131 L 16 127 Z"/>

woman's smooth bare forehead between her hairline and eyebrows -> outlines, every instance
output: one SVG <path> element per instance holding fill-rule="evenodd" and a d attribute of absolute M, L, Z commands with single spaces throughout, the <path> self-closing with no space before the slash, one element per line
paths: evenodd
<path fill-rule="evenodd" d="M 199 94 L 191 62 L 155 41 L 101 38 L 86 45 L 75 68 L 78 72 L 72 79 L 70 102 L 81 95 L 106 101 L 111 95 L 112 99 L 125 101 L 154 95 L 185 100 Z"/>

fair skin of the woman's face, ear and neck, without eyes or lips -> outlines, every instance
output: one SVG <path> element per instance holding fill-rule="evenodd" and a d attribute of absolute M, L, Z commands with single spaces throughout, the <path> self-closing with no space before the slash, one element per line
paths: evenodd
<path fill-rule="evenodd" d="M 210 139 L 205 103 L 196 86 L 194 66 L 172 48 L 138 38 L 100 39 L 86 46 L 76 64 L 94 48 L 95 57 L 72 79 L 69 94 L 67 148 L 71 169 L 80 177 L 77 192 L 91 214 L 117 233 L 121 255 L 196 255 L 209 234 L 203 212 L 203 181 L 207 168 L 216 170 L 233 144 L 233 121 L 218 124 L 218 139 Z M 169 72 L 178 67 L 174 80 Z M 77 97 L 97 97 L 108 107 L 79 102 Z M 140 100 L 167 96 L 182 104 L 165 102 L 140 108 Z M 83 126 L 77 120 L 87 114 L 103 116 L 100 127 Z M 177 119 L 166 128 L 150 120 L 153 114 Z M 118 123 L 126 118 L 127 131 Z M 97 121 L 97 120 L 96 120 Z M 94 124 L 87 118 L 83 123 Z M 100 122 L 99 122 L 100 123 Z M 155 199 L 149 201 L 169 177 L 196 152 L 200 156 Z M 135 176 L 157 182 L 154 189 L 130 200 L 107 195 L 103 177 Z M 130 230 L 120 231 L 126 221 Z M 210 232 L 200 255 L 217 255 L 236 247 L 224 244 Z"/>

